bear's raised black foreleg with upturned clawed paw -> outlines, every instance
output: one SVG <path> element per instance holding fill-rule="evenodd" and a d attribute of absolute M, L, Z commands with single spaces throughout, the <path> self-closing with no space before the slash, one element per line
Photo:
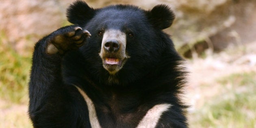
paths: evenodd
<path fill-rule="evenodd" d="M 29 82 L 29 115 L 34 127 L 74 126 L 75 121 L 69 118 L 72 117 L 70 108 L 75 107 L 70 105 L 76 100 L 69 94 L 72 88 L 67 91 L 63 84 L 61 59 L 65 52 L 82 46 L 89 36 L 87 30 L 72 25 L 36 43 Z"/>

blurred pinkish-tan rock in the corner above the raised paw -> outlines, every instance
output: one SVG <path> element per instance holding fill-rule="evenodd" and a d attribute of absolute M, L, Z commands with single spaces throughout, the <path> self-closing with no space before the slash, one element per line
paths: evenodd
<path fill-rule="evenodd" d="M 63 26 L 67 6 L 61 0 L 1 1 L 0 30 L 7 38 L 4 43 L 11 43 L 20 53 L 33 48 L 42 36 Z"/>

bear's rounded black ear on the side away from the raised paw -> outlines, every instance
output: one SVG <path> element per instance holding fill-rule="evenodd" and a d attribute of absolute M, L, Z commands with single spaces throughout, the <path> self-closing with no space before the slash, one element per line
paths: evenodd
<path fill-rule="evenodd" d="M 171 26 L 175 15 L 171 9 L 164 4 L 156 5 L 152 10 L 146 11 L 150 23 L 158 29 L 165 29 Z"/>

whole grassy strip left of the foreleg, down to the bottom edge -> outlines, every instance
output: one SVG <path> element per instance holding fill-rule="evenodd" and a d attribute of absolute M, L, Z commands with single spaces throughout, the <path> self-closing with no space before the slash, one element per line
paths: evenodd
<path fill-rule="evenodd" d="M 27 114 L 30 56 L 18 54 L 0 32 L 0 128 L 32 128 Z"/>

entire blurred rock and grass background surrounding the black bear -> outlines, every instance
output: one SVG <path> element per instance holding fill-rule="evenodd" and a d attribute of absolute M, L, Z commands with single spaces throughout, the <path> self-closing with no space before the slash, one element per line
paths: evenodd
<path fill-rule="evenodd" d="M 170 28 L 189 70 L 191 128 L 256 128 L 256 0 L 85 0 L 100 8 L 168 4 Z M 74 0 L 0 0 L 0 127 L 31 128 L 28 81 L 34 44 L 69 25 Z"/>

